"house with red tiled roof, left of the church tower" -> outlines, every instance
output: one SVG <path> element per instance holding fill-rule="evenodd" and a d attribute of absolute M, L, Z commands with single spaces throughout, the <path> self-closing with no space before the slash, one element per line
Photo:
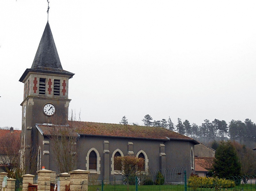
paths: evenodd
<path fill-rule="evenodd" d="M 18 163 L 20 149 L 20 130 L 0 129 L 0 172 L 6 172 L 10 164 Z"/>

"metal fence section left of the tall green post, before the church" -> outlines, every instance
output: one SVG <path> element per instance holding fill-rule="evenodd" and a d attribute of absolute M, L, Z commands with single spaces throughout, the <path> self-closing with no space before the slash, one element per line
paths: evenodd
<path fill-rule="evenodd" d="M 134 176 L 115 175 L 102 179 L 81 182 L 81 190 L 86 191 L 167 191 L 184 190 L 186 174 L 184 168 L 141 172 Z"/>

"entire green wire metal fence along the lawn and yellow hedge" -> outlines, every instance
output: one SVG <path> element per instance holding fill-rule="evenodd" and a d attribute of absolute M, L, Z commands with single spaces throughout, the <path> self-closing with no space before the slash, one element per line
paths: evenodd
<path fill-rule="evenodd" d="M 184 168 L 82 181 L 82 191 L 256 191 L 256 176 L 187 178 Z"/>

